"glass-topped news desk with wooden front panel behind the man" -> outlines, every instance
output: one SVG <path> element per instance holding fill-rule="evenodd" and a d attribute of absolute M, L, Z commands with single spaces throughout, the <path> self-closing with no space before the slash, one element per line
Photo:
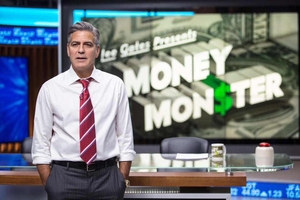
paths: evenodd
<path fill-rule="evenodd" d="M 246 186 L 245 172 L 291 169 L 285 153 L 271 167 L 257 167 L 254 154 L 226 154 L 223 160 L 180 158 L 176 154 L 137 154 L 124 199 L 230 199 L 230 187 Z M 42 185 L 31 154 L 0 154 L 0 184 Z"/>

